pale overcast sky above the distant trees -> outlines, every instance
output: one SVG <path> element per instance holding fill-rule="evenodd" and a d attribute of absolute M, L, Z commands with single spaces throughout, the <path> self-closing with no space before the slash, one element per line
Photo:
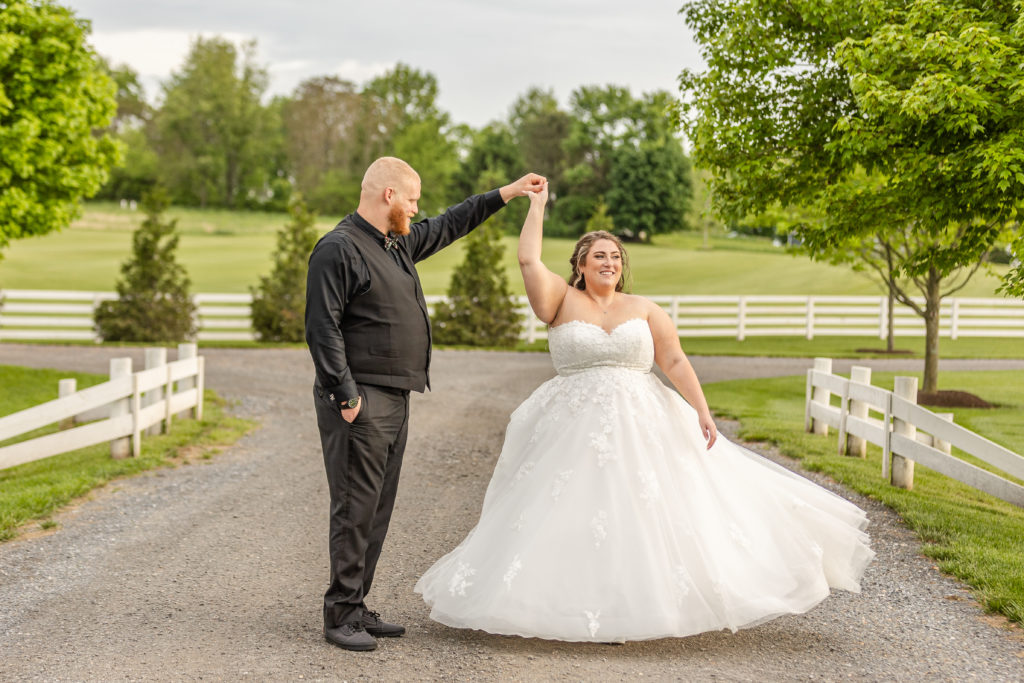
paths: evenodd
<path fill-rule="evenodd" d="M 255 38 L 271 94 L 335 74 L 362 84 L 396 62 L 432 73 L 457 122 L 504 119 L 532 85 L 565 104 L 581 85 L 677 92 L 697 48 L 683 0 L 62 0 L 91 42 L 143 79 L 151 100 L 198 35 Z"/>

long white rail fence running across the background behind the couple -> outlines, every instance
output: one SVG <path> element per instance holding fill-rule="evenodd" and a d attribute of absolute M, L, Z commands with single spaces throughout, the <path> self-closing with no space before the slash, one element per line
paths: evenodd
<path fill-rule="evenodd" d="M 0 340 L 100 341 L 92 322 L 100 301 L 112 292 L 0 290 Z M 680 337 L 836 337 L 885 339 L 889 300 L 879 296 L 692 295 L 648 297 L 676 324 Z M 427 306 L 444 301 L 428 296 Z M 252 296 L 197 294 L 199 341 L 252 341 Z M 548 331 L 516 298 L 523 313 L 521 338 L 535 341 Z M 924 303 L 923 301 L 921 303 Z M 895 311 L 897 337 L 922 337 L 925 324 L 909 307 Z M 943 337 L 1016 337 L 1024 339 L 1024 300 L 952 297 L 942 302 L 939 331 Z"/>

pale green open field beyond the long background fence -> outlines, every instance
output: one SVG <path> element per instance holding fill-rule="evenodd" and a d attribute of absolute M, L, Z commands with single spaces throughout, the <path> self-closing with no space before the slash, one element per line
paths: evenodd
<path fill-rule="evenodd" d="M 286 214 L 173 208 L 181 233 L 178 257 L 188 270 L 195 292 L 247 292 L 271 266 L 274 234 Z M 322 217 L 321 232 L 340 216 Z M 140 211 L 114 203 L 91 203 L 84 215 L 61 232 L 12 243 L 0 261 L 0 287 L 10 289 L 110 291 L 128 256 L 131 232 Z M 545 262 L 568 272 L 573 241 L 549 239 Z M 638 294 L 870 294 L 880 290 L 849 268 L 815 263 L 771 246 L 767 239 L 717 236 L 712 249 L 701 248 L 696 233 L 658 236 L 653 245 L 628 247 L 633 264 L 633 291 Z M 505 239 L 509 283 L 523 293 L 516 264 L 516 239 Z M 462 259 L 456 243 L 420 264 L 427 294 L 447 291 L 452 269 Z M 1005 266 L 996 272 L 1004 272 Z M 962 296 L 993 296 L 997 280 L 979 273 Z"/>

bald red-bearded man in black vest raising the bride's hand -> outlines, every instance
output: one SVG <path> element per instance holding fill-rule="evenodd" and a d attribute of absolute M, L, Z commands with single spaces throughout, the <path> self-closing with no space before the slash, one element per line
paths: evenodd
<path fill-rule="evenodd" d="M 306 342 L 331 493 L 331 585 L 324 636 L 349 650 L 396 637 L 364 599 L 387 533 L 409 428 L 409 392 L 430 386 L 430 319 L 415 263 L 469 233 L 513 197 L 537 191 L 530 173 L 417 223 L 420 176 L 393 157 L 362 177 L 359 206 L 309 257 Z"/>

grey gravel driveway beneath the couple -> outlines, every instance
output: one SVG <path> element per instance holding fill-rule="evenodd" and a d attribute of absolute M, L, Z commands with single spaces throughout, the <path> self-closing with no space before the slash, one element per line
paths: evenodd
<path fill-rule="evenodd" d="M 1024 680 L 1021 630 L 986 617 L 894 514 L 844 492 L 868 511 L 878 557 L 862 594 L 837 593 L 808 614 L 623 646 L 430 622 L 413 585 L 473 525 L 508 415 L 553 374 L 545 354 L 477 351 L 436 352 L 434 390 L 414 394 L 401 490 L 370 601 L 409 634 L 371 653 L 339 650 L 321 634 L 328 494 L 308 354 L 203 354 L 208 386 L 261 428 L 213 460 L 106 486 L 58 515 L 56 532 L 0 545 L 0 680 Z M 100 373 L 119 355 L 140 364 L 142 352 L 0 345 L 0 364 Z M 694 358 L 705 381 L 809 365 Z M 943 364 L 996 368 L 1024 360 Z"/>

